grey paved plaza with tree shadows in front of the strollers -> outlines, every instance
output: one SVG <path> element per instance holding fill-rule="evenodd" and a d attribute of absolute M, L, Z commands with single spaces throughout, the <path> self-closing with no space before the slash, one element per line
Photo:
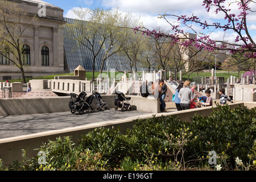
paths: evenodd
<path fill-rule="evenodd" d="M 140 115 L 150 114 L 147 112 L 95 110 L 94 113 L 85 112 L 72 114 L 70 111 L 61 113 L 24 114 L 0 116 L 0 139 L 18 137 L 22 135 L 35 134 L 44 131 L 53 131 L 97 123 L 102 121 L 113 121 L 123 118 L 138 118 Z"/>

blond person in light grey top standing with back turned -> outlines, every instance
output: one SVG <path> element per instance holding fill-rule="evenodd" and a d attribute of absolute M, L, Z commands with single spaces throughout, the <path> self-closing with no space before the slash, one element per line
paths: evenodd
<path fill-rule="evenodd" d="M 190 109 L 191 100 L 194 99 L 193 92 L 189 86 L 190 83 L 190 81 L 186 80 L 183 88 L 181 88 L 179 92 L 180 106 L 182 110 Z"/>

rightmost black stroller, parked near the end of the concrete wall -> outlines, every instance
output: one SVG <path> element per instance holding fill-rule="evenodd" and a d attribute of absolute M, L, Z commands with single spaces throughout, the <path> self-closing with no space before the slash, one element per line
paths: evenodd
<path fill-rule="evenodd" d="M 124 110 L 131 110 L 131 104 L 130 100 L 131 97 L 125 97 L 125 94 L 123 94 L 120 91 L 115 91 L 115 110 L 118 110 L 118 107 L 121 107 L 121 111 Z"/>

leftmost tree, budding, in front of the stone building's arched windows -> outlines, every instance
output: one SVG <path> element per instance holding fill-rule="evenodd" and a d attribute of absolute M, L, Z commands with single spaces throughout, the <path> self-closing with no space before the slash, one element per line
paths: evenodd
<path fill-rule="evenodd" d="M 38 27 L 38 18 L 28 14 L 15 2 L 0 2 L 0 55 L 20 69 L 23 83 L 26 83 L 22 40 L 27 30 Z"/>

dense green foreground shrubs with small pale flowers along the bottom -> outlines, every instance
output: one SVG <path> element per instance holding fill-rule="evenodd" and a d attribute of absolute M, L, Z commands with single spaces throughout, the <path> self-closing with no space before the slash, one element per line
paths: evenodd
<path fill-rule="evenodd" d="M 15 162 L 2 170 L 255 170 L 256 107 L 213 109 L 192 122 L 176 116 L 138 119 L 133 129 L 97 128 L 81 137 L 44 143 L 46 154 Z M 216 154 L 216 155 L 212 155 Z"/>

